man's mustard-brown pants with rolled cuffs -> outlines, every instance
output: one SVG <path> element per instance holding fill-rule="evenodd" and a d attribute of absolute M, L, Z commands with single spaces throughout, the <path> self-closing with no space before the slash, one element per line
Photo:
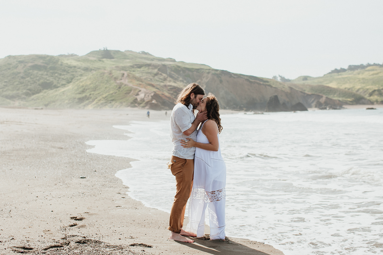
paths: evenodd
<path fill-rule="evenodd" d="M 172 156 L 171 162 L 170 171 L 175 176 L 177 192 L 170 211 L 168 229 L 179 234 L 183 226 L 186 203 L 193 187 L 194 159 L 182 159 Z"/>

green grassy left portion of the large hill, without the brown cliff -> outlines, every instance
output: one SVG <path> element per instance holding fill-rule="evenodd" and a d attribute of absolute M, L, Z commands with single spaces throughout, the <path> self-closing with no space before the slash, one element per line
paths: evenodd
<path fill-rule="evenodd" d="M 104 58 L 105 53 L 111 58 Z M 107 57 L 107 56 L 106 56 Z M 155 101 L 137 93 L 156 92 L 165 108 L 180 90 L 171 80 L 156 75 L 153 64 L 175 63 L 147 53 L 98 50 L 85 56 L 22 55 L 0 59 L 0 105 L 49 107 L 146 107 Z M 195 68 L 196 64 L 177 62 Z M 210 68 L 198 65 L 198 68 Z M 211 69 L 211 68 L 210 68 Z M 128 70 L 128 71 L 127 71 Z M 139 76 L 144 77 L 144 79 Z M 146 78 L 146 79 L 145 79 Z M 156 84 L 154 84 L 154 83 Z M 169 93 L 170 91 L 170 93 Z M 152 93 L 153 94 L 153 93 Z M 157 104 L 155 101 L 154 104 Z"/>

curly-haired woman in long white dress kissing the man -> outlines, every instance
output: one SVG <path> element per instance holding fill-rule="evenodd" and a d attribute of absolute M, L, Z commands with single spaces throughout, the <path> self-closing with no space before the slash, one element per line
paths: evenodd
<path fill-rule="evenodd" d="M 219 147 L 221 119 L 216 97 L 209 93 L 197 107 L 207 112 L 208 120 L 201 124 L 196 141 L 187 138 L 183 147 L 196 147 L 194 181 L 189 201 L 189 223 L 186 231 L 204 236 L 205 210 L 209 209 L 210 239 L 225 239 L 226 165 Z"/>

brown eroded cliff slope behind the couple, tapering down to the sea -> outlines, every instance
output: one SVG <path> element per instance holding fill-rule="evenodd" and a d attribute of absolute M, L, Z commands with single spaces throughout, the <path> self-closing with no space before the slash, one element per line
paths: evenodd
<path fill-rule="evenodd" d="M 223 109 L 259 110 L 267 108 L 271 96 L 276 95 L 283 109 L 290 110 L 301 103 L 306 108 L 316 107 L 317 102 L 326 106 L 342 106 L 342 102 L 319 94 L 309 94 L 286 86 L 272 79 L 230 73 L 224 70 L 205 68 L 182 68 L 177 65 L 161 65 L 153 70 L 151 77 L 164 76 L 165 82 L 182 86 L 196 82 L 206 93 L 213 93 Z M 181 87 L 180 87 L 181 89 Z M 177 96 L 173 94 L 174 98 Z M 320 103 L 319 103 L 320 104 Z"/>

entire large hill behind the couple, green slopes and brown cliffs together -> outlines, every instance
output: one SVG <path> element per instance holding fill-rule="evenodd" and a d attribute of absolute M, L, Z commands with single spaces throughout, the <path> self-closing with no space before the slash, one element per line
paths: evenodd
<path fill-rule="evenodd" d="M 226 109 L 264 110 L 273 95 L 287 107 L 298 102 L 313 107 L 319 100 L 321 104 L 340 104 L 298 86 L 147 52 L 96 50 L 84 56 L 0 59 L 2 106 L 171 109 L 179 91 L 191 82 L 215 94 Z"/>

